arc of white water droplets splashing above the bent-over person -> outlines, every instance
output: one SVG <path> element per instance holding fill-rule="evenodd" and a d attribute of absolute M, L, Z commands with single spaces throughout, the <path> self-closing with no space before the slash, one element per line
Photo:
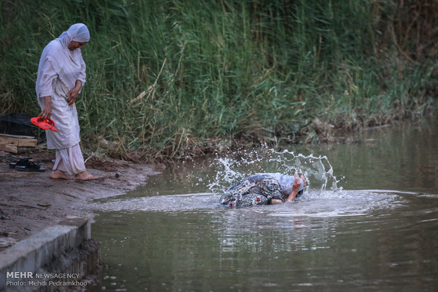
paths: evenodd
<path fill-rule="evenodd" d="M 230 152 L 225 157 L 217 157 L 210 164 L 215 176 L 208 188 L 221 193 L 236 181 L 251 174 L 280 172 L 293 175 L 302 173 L 307 178 L 307 189 L 341 190 L 338 179 L 333 176 L 333 166 L 325 155 L 295 154 L 289 150 L 278 152 L 270 148 Z"/>

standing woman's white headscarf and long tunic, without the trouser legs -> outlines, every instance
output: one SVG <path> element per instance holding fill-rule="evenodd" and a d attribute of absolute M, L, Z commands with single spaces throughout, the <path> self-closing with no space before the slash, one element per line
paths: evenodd
<path fill-rule="evenodd" d="M 77 23 L 49 42 L 42 51 L 35 90 L 41 109 L 45 105 L 43 97 L 52 97 L 51 118 L 58 129 L 58 132 L 46 130 L 49 149 L 71 147 L 81 140 L 76 105 L 69 106 L 66 94 L 75 87 L 76 80 L 85 83 L 85 62 L 81 49 L 70 51 L 69 44 L 72 40 L 88 42 L 89 39 L 87 27 Z"/>

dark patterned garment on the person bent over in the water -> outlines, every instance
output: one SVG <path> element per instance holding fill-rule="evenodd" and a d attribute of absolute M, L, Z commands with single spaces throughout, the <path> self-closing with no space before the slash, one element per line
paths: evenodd
<path fill-rule="evenodd" d="M 254 174 L 231 185 L 220 197 L 219 202 L 229 207 L 271 204 L 271 199 L 286 200 L 281 185 L 267 174 Z"/>

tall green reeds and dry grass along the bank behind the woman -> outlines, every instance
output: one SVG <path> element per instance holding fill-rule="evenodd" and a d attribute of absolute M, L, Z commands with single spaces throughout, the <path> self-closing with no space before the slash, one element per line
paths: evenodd
<path fill-rule="evenodd" d="M 437 1 L 1 0 L 0 114 L 38 114 L 45 45 L 85 23 L 83 146 L 174 159 L 421 118 Z"/>

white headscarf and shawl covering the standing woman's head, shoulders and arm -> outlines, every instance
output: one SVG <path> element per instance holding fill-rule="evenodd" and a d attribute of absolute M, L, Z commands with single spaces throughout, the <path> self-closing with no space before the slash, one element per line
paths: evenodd
<path fill-rule="evenodd" d="M 52 66 L 52 71 L 57 74 L 59 80 L 66 85 L 67 90 L 71 90 L 76 85 L 76 80 L 81 80 L 85 83 L 85 62 L 83 61 L 81 49 L 70 51 L 69 44 L 71 41 L 88 42 L 90 40 L 90 32 L 83 23 L 71 25 L 69 30 L 62 32 L 57 38 L 49 42 L 42 51 L 40 64 L 38 66 L 36 91 L 37 96 L 44 95 L 42 80 L 43 68 L 47 69 L 47 62 Z M 49 72 L 50 73 L 50 72 Z M 46 90 L 47 91 L 47 90 Z"/>

